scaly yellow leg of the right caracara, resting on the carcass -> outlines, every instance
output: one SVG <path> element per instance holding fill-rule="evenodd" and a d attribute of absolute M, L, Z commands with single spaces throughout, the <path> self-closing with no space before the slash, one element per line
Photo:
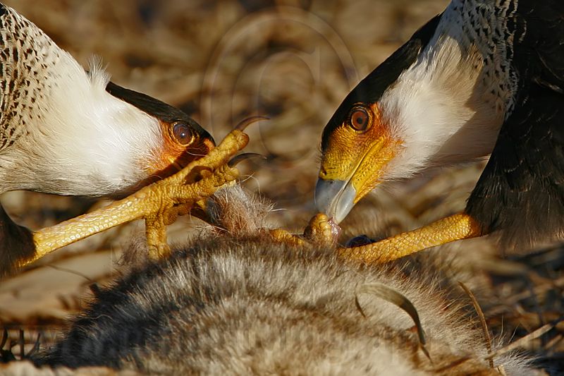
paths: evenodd
<path fill-rule="evenodd" d="M 460 213 L 376 243 L 353 248 L 338 248 L 337 252 L 351 260 L 381 264 L 419 250 L 476 236 L 482 236 L 479 224 L 468 214 Z"/>

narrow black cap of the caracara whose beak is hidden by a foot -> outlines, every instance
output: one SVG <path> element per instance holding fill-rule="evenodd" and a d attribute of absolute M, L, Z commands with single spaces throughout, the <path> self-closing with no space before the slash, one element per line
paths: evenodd
<path fill-rule="evenodd" d="M 192 119 L 188 114 L 176 107 L 166 104 L 165 102 L 159 101 L 149 95 L 145 95 L 142 92 L 136 92 L 134 90 L 125 89 L 120 85 L 116 85 L 111 81 L 106 86 L 106 92 L 109 92 L 116 98 L 128 102 L 133 106 L 137 107 L 141 111 L 156 117 L 157 119 L 164 121 L 165 123 L 175 123 L 177 121 L 182 121 L 187 123 L 190 127 L 202 137 L 214 140 L 212 135 L 210 135 L 200 124 L 198 124 L 194 119 Z"/>

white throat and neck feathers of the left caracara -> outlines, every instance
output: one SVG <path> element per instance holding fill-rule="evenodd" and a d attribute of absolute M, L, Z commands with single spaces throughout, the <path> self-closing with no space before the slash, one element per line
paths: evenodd
<path fill-rule="evenodd" d="M 27 125 L 29 135 L 13 145 L 17 154 L 0 156 L 4 162 L 18 156 L 11 161 L 18 178 L 6 190 L 109 195 L 134 186 L 147 177 L 143 168 L 161 146 L 157 119 L 106 92 L 109 75 L 99 62 L 86 73 L 61 52 L 47 72 L 52 85 L 40 99 L 37 120 Z"/>

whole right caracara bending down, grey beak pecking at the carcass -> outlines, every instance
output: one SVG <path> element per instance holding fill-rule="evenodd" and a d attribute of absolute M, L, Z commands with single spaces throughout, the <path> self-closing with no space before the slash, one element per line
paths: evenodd
<path fill-rule="evenodd" d="M 351 251 L 369 261 L 496 232 L 564 229 L 564 3 L 453 0 L 344 99 L 321 140 L 319 211 L 341 222 L 391 179 L 491 154 L 464 212 Z"/>

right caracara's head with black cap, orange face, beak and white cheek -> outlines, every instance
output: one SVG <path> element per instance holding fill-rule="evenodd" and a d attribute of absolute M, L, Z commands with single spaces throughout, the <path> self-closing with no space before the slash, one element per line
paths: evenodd
<path fill-rule="evenodd" d="M 315 202 L 333 222 L 382 181 L 412 174 L 434 150 L 428 141 L 442 129 L 431 127 L 422 138 L 418 116 L 441 106 L 427 102 L 436 99 L 411 73 L 438 23 L 439 16 L 360 81 L 325 126 Z"/>

